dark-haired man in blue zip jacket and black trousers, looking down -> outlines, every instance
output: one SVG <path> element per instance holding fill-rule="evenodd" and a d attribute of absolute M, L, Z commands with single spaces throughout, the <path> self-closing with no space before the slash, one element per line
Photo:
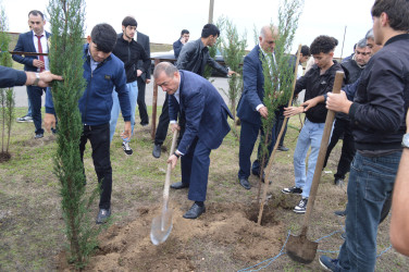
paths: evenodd
<path fill-rule="evenodd" d="M 84 78 L 87 86 L 78 100 L 84 131 L 79 140 L 80 158 L 89 139 L 92 147 L 94 168 L 101 185 L 97 224 L 104 223 L 111 215 L 112 168 L 110 159 L 110 120 L 112 91 L 117 92 L 122 115 L 125 121 L 123 138 L 131 137 L 131 103 L 126 87 L 123 62 L 111 54 L 116 33 L 109 24 L 98 24 L 84 46 Z M 54 108 L 50 91 L 46 96 L 45 126 L 47 131 L 55 125 Z"/>

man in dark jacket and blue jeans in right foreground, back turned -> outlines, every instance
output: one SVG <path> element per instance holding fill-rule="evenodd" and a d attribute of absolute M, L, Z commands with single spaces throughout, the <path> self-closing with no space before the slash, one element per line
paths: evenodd
<path fill-rule="evenodd" d="M 329 94 L 326 107 L 347 113 L 357 148 L 348 180 L 346 239 L 337 259 L 320 257 L 332 271 L 374 271 L 384 202 L 394 188 L 409 98 L 409 1 L 376 0 L 375 42 L 384 47 L 362 72 L 354 102 Z M 407 143 L 405 143 L 407 147 Z"/>

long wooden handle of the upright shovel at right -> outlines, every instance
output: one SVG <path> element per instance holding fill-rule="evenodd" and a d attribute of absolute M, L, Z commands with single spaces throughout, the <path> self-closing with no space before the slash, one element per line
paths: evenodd
<path fill-rule="evenodd" d="M 340 92 L 340 88 L 343 86 L 343 79 L 344 79 L 344 72 L 337 71 L 335 74 L 335 81 L 334 81 L 334 87 L 333 87 L 332 94 Z M 318 154 L 317 164 L 315 164 L 315 171 L 312 177 L 312 185 L 311 185 L 310 196 L 308 198 L 307 211 L 303 217 L 302 231 L 301 231 L 302 234 L 307 234 L 307 227 L 309 224 L 312 208 L 314 206 L 318 186 L 320 184 L 322 166 L 324 165 L 326 149 L 329 147 L 334 118 L 335 118 L 335 112 L 332 110 L 329 110 L 326 113 L 325 126 L 324 126 L 324 132 L 322 134 L 320 152 Z"/>

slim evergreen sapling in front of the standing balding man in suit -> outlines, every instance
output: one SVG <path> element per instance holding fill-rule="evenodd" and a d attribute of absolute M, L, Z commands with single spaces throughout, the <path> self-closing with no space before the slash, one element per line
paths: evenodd
<path fill-rule="evenodd" d="M 264 75 L 263 104 L 269 112 L 268 118 L 262 119 L 265 132 L 262 137 L 262 158 L 259 158 L 262 165 L 265 165 L 268 145 L 271 141 L 271 131 L 275 123 L 275 111 L 280 106 L 287 104 L 292 96 L 294 66 L 290 62 L 289 51 L 302 7 L 303 0 L 282 0 L 278 8 L 278 36 L 275 40 L 274 55 L 268 53 L 264 58 L 262 52 L 260 53 Z M 274 32 L 273 25 L 271 25 L 271 29 Z"/>

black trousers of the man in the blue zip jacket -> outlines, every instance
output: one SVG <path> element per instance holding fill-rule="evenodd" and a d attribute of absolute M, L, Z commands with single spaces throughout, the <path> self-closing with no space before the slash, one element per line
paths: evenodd
<path fill-rule="evenodd" d="M 112 193 L 112 166 L 110 159 L 110 124 L 84 125 L 79 140 L 80 159 L 84 162 L 84 151 L 87 140 L 91 143 L 92 161 L 98 183 L 101 186 L 99 199 L 100 209 L 110 209 Z"/>

